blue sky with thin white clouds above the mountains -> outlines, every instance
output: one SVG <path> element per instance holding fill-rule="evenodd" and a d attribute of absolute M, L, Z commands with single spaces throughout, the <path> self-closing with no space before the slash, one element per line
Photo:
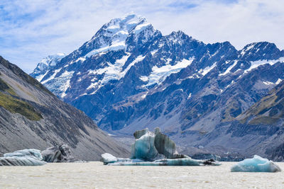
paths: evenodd
<path fill-rule="evenodd" d="M 1 0 L 0 56 L 31 73 L 40 59 L 77 50 L 104 23 L 132 11 L 163 35 L 182 30 L 237 50 L 259 41 L 284 49 L 283 0 Z"/>

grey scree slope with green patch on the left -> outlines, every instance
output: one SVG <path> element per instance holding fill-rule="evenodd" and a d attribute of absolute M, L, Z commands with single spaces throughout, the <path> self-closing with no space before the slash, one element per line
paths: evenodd
<path fill-rule="evenodd" d="M 56 144 L 68 144 L 84 160 L 98 160 L 104 152 L 129 154 L 82 111 L 0 57 L 0 154 Z"/>

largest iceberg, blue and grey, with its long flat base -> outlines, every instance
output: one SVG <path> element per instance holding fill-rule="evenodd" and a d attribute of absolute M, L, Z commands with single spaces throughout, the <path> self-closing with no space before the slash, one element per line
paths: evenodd
<path fill-rule="evenodd" d="M 219 166 L 213 159 L 197 160 L 178 154 L 175 142 L 162 134 L 158 127 L 155 132 L 148 128 L 134 132 L 135 142 L 131 145 L 131 158 L 121 159 L 111 154 L 102 154 L 104 165 L 111 166 Z M 165 159 L 158 159 L 160 156 Z M 157 160 L 158 159 L 158 160 Z"/>

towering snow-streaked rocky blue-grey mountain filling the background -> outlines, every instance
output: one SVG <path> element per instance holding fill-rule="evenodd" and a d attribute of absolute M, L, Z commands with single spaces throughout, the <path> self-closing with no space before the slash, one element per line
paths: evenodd
<path fill-rule="evenodd" d="M 182 146 L 214 149 L 209 134 L 226 131 L 223 123 L 279 84 L 283 62 L 284 51 L 273 43 L 242 50 L 229 42 L 204 44 L 182 31 L 162 35 L 130 14 L 103 25 L 37 79 L 109 132 L 159 126 Z M 227 150 L 231 139 L 220 139 Z M 246 145 L 253 139 L 240 148 Z"/>

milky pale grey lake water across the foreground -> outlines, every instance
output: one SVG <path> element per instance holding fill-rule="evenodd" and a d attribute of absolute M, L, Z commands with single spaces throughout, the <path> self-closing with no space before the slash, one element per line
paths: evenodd
<path fill-rule="evenodd" d="M 0 188 L 284 188 L 284 172 L 222 166 L 103 166 L 102 162 L 0 166 Z M 284 170 L 284 163 L 277 163 Z"/>

